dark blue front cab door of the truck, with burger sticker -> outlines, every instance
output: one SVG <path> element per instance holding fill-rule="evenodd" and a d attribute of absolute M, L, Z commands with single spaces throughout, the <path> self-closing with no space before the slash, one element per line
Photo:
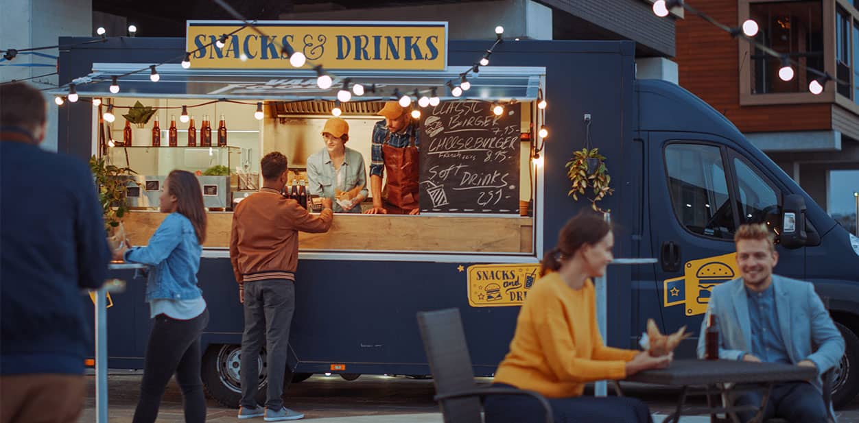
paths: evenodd
<path fill-rule="evenodd" d="M 711 289 L 740 277 L 736 228 L 765 222 L 778 232 L 782 190 L 760 163 L 722 137 L 650 132 L 648 139 L 649 236 L 659 260 L 655 289 L 661 299 L 661 329 L 686 325 L 693 337 L 677 353 L 689 357 Z M 802 251 L 778 250 L 776 272 L 802 277 Z M 649 317 L 657 316 L 640 316 L 639 327 Z"/>

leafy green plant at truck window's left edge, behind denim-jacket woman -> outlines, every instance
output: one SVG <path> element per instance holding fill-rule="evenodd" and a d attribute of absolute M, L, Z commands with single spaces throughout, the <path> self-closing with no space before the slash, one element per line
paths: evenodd
<path fill-rule="evenodd" d="M 95 156 L 89 158 L 89 169 L 93 172 L 95 186 L 99 192 L 107 243 L 112 250 L 116 250 L 125 241 L 122 219 L 129 210 L 125 196 L 128 192 L 127 184 L 129 182 L 137 184 L 130 178 L 136 172 L 129 167 L 110 165 L 104 157 Z"/>

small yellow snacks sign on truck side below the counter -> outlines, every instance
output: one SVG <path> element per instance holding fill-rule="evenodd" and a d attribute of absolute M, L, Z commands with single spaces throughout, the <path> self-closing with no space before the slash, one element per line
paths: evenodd
<path fill-rule="evenodd" d="M 522 305 L 539 275 L 539 264 L 468 266 L 468 304 L 472 307 Z"/>

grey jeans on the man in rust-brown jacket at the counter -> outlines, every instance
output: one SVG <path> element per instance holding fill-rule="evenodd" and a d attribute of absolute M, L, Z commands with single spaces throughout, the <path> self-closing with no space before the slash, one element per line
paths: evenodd
<path fill-rule="evenodd" d="M 295 283 L 285 279 L 245 283 L 245 333 L 241 336 L 241 406 L 257 407 L 259 384 L 257 357 L 265 345 L 268 368 L 268 390 L 265 407 L 283 407 L 286 357 L 289 349 L 289 325 L 295 312 Z"/>

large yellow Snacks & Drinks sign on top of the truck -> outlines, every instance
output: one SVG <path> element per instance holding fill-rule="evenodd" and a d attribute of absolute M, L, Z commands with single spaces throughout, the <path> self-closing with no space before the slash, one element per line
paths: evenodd
<path fill-rule="evenodd" d="M 191 67 L 292 69 L 280 49 L 287 43 L 325 69 L 444 70 L 448 65 L 448 22 L 257 21 L 265 36 L 243 25 L 188 21 L 186 51 L 196 51 Z M 217 47 L 225 34 L 224 46 Z"/>

